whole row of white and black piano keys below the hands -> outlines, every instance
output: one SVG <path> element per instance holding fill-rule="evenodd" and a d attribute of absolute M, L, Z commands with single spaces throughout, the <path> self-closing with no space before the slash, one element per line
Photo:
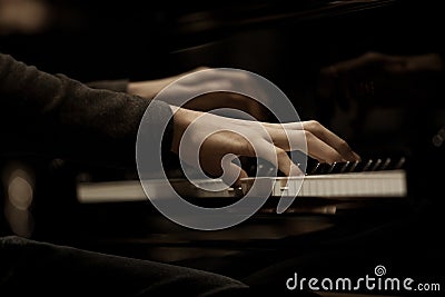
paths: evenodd
<path fill-rule="evenodd" d="M 406 172 L 403 169 L 405 159 L 376 159 L 359 162 L 344 162 L 334 165 L 316 164 L 308 168 L 308 175 L 300 177 L 256 177 L 241 180 L 241 187 L 234 189 L 221 179 L 194 180 L 170 179 L 149 180 L 152 198 L 171 198 L 166 190 L 166 182 L 182 197 L 191 198 L 236 198 L 246 195 L 254 185 L 254 189 L 264 191 L 271 197 L 317 197 L 333 199 L 362 199 L 406 197 Z M 312 174 L 310 174 L 312 172 Z M 204 189 L 215 190 L 204 190 Z M 147 196 L 139 180 L 119 180 L 101 182 L 79 182 L 79 202 L 119 202 L 146 200 Z"/>

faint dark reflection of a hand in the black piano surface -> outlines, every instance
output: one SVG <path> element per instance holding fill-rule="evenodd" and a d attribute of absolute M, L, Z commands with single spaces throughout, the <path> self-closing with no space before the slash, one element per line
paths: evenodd
<path fill-rule="evenodd" d="M 444 70 L 437 53 L 390 56 L 367 52 L 357 58 L 323 68 L 317 95 L 347 109 L 353 101 L 389 103 L 397 98 L 425 97 L 432 76 Z M 389 99 L 389 100 L 387 100 Z"/>

